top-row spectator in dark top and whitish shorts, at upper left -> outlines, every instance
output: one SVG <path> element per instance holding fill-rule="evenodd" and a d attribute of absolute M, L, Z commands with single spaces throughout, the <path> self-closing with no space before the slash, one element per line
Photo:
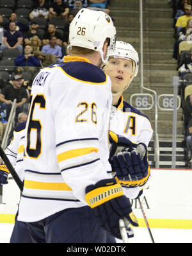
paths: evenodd
<path fill-rule="evenodd" d="M 29 13 L 29 19 L 33 19 L 35 17 L 42 17 L 44 19 L 48 19 L 49 17 L 49 3 L 45 0 L 36 0 L 33 3 L 33 10 Z"/>

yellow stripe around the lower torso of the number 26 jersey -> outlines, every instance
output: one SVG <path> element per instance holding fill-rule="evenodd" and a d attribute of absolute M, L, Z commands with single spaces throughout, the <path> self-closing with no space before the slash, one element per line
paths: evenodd
<path fill-rule="evenodd" d="M 72 191 L 66 183 L 59 182 L 34 182 L 33 180 L 25 180 L 24 187 L 26 189 L 42 189 L 54 191 Z"/>

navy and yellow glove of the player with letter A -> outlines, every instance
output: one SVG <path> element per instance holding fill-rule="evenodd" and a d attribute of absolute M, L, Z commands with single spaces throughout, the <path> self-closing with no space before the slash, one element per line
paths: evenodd
<path fill-rule="evenodd" d="M 150 175 L 147 147 L 143 143 L 133 143 L 129 139 L 115 133 L 112 135 L 113 137 L 109 136 L 109 140 L 113 148 L 114 144 L 116 144 L 116 149 L 119 146 L 121 147 L 120 152 L 113 155 L 109 160 L 116 181 L 125 187 L 143 186 Z"/>

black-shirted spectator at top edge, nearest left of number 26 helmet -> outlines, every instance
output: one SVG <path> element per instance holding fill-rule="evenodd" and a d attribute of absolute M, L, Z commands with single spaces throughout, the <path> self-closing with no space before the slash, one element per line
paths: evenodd
<path fill-rule="evenodd" d="M 56 17 L 67 19 L 69 10 L 70 8 L 67 2 L 63 3 L 62 0 L 55 0 L 49 8 L 49 21 Z"/>

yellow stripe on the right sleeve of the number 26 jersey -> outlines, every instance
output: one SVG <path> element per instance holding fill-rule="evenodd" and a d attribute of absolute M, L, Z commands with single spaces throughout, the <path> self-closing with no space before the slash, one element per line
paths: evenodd
<path fill-rule="evenodd" d="M 99 149 L 97 148 L 79 148 L 79 149 L 72 149 L 68 150 L 64 153 L 61 153 L 57 156 L 58 162 L 62 162 L 64 160 L 74 158 L 74 157 L 80 157 L 81 155 L 87 155 L 89 153 L 92 153 L 93 151 L 98 152 Z"/>

